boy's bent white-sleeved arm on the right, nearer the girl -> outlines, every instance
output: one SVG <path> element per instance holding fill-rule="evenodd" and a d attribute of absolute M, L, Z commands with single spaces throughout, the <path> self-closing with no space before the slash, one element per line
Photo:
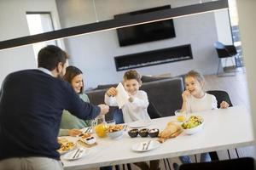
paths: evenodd
<path fill-rule="evenodd" d="M 148 102 L 148 94 L 144 91 L 140 91 L 140 94 L 138 94 L 137 97 L 130 97 L 129 101 L 131 102 L 132 105 L 136 107 L 141 107 L 141 108 L 147 108 L 149 105 Z"/>

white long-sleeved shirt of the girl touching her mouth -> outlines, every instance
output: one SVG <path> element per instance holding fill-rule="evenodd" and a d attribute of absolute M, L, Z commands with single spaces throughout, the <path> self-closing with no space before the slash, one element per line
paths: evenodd
<path fill-rule="evenodd" d="M 209 111 L 217 109 L 217 99 L 212 94 L 205 94 L 202 98 L 195 98 L 189 95 L 187 99 L 187 112 L 196 113 L 199 111 Z"/>

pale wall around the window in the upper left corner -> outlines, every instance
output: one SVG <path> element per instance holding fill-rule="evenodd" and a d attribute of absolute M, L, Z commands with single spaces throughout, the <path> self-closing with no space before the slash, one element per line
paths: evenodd
<path fill-rule="evenodd" d="M 55 0 L 0 0 L 0 41 L 29 35 L 26 12 L 50 12 L 60 29 Z M 10 72 L 36 68 L 32 45 L 0 51 L 0 86 Z"/>

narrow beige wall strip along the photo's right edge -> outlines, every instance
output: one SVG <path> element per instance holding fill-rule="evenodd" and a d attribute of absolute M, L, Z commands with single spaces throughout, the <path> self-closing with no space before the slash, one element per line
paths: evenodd
<path fill-rule="evenodd" d="M 241 33 L 242 54 L 247 68 L 248 91 L 251 101 L 251 115 L 253 117 L 254 139 L 256 136 L 256 58 L 255 58 L 255 40 L 256 40 L 256 1 L 236 1 L 239 17 L 239 30 Z M 256 155 L 256 153 L 255 153 Z"/>

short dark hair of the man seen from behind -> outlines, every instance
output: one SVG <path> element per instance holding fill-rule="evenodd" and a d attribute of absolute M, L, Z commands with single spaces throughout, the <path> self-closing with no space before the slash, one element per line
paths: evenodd
<path fill-rule="evenodd" d="M 48 45 L 38 52 L 38 67 L 53 71 L 58 63 L 66 63 L 68 55 L 55 45 Z"/>

